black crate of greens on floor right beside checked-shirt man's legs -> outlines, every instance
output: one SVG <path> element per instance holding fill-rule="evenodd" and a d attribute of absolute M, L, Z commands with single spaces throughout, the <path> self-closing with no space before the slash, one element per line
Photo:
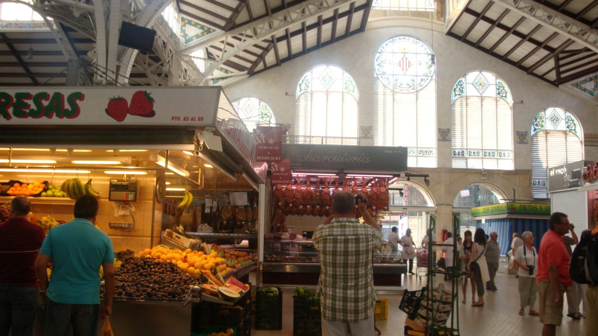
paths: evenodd
<path fill-rule="evenodd" d="M 320 300 L 293 296 L 293 335 L 322 335 Z"/>

